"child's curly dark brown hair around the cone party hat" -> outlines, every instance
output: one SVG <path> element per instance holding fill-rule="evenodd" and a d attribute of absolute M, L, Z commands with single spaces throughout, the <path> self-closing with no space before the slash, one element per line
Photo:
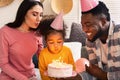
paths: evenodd
<path fill-rule="evenodd" d="M 56 15 L 45 15 L 43 16 L 43 19 L 40 22 L 39 25 L 39 34 L 43 35 L 45 37 L 45 40 L 47 39 L 47 36 L 51 33 L 61 33 L 63 36 L 63 39 L 66 35 L 66 25 L 63 23 L 63 30 L 55 30 L 50 25 L 55 19 Z"/>

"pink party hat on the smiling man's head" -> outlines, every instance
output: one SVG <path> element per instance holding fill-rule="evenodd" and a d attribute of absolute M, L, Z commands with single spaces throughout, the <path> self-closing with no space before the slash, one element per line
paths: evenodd
<path fill-rule="evenodd" d="M 81 0 L 82 12 L 89 11 L 99 4 L 98 0 Z"/>

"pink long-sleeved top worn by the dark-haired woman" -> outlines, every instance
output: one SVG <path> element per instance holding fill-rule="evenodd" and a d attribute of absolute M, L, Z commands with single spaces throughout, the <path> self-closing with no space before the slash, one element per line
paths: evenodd
<path fill-rule="evenodd" d="M 35 75 L 32 56 L 43 48 L 42 37 L 7 26 L 0 29 L 0 80 L 28 80 Z"/>

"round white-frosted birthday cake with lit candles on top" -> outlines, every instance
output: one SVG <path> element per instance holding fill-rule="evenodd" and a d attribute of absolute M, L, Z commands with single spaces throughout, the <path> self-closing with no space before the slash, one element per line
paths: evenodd
<path fill-rule="evenodd" d="M 48 64 L 48 75 L 50 77 L 70 77 L 72 76 L 73 66 L 60 61 L 53 61 Z"/>

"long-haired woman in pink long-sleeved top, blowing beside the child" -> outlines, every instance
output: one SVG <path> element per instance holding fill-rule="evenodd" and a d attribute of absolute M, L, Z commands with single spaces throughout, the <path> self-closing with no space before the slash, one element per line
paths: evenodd
<path fill-rule="evenodd" d="M 37 80 L 32 56 L 43 47 L 36 34 L 42 16 L 38 0 L 24 0 L 15 21 L 0 29 L 0 80 Z"/>

